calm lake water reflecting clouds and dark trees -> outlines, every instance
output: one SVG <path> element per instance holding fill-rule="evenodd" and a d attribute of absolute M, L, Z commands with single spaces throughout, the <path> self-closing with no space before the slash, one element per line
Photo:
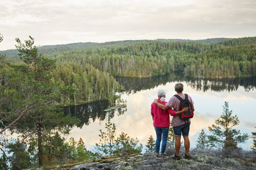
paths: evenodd
<path fill-rule="evenodd" d="M 124 78 L 117 80 L 125 86 L 127 91 L 121 98 L 127 100 L 127 107 L 115 111 L 105 112 L 108 101 L 97 101 L 90 104 L 65 107 L 65 114 L 78 117 L 83 124 L 74 127 L 69 137 L 76 141 L 81 137 L 86 148 L 93 150 L 99 142 L 99 129 L 104 130 L 107 117 L 116 125 L 116 134 L 127 133 L 132 138 L 138 138 L 145 145 L 149 136 L 156 138 L 152 117 L 150 114 L 152 101 L 157 98 L 157 90 L 166 91 L 166 100 L 175 94 L 174 86 L 184 84 L 184 93 L 189 94 L 195 107 L 195 115 L 191 119 L 190 140 L 191 147 L 196 147 L 196 140 L 201 129 L 209 134 L 208 127 L 222 114 L 222 106 L 229 102 L 233 115 L 237 115 L 240 124 L 235 129 L 241 133 L 256 131 L 256 77 L 236 79 L 188 79 L 180 74 L 168 74 L 150 78 Z M 171 118 L 170 118 L 171 119 Z M 249 150 L 252 139 L 245 144 L 239 144 L 244 150 Z"/>

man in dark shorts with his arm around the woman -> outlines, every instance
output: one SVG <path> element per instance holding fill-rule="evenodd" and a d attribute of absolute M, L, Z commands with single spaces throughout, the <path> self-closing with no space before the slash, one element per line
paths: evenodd
<path fill-rule="evenodd" d="M 183 94 L 183 84 L 177 83 L 175 84 L 175 91 L 176 93 L 182 98 L 185 99 L 185 94 Z M 188 95 L 188 100 L 191 103 L 192 110 L 194 111 L 194 103 L 191 97 Z M 157 99 L 154 100 L 154 103 L 157 104 L 157 106 L 160 109 L 167 110 L 169 108 L 173 108 L 174 110 L 178 111 L 179 106 L 180 106 L 180 100 L 172 96 L 171 99 L 165 104 L 160 104 Z M 184 139 L 184 146 L 185 146 L 185 159 L 190 159 L 191 156 L 189 155 L 189 148 L 190 148 L 190 141 L 188 138 L 189 134 L 189 128 L 190 128 L 190 119 L 187 120 L 182 120 L 180 119 L 179 116 L 173 116 L 172 117 L 172 127 L 175 135 L 175 154 L 174 154 L 174 159 L 175 160 L 180 160 L 180 139 L 181 139 L 181 134 L 183 135 Z"/>

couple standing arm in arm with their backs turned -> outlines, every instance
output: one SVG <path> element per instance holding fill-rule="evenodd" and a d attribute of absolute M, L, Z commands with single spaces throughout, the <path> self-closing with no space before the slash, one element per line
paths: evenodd
<path fill-rule="evenodd" d="M 175 91 L 182 99 L 185 99 L 185 94 L 183 94 L 183 84 L 177 83 L 175 84 Z M 157 91 L 158 99 L 154 99 L 154 102 L 151 105 L 151 115 L 153 119 L 154 129 L 157 134 L 156 140 L 156 158 L 166 158 L 164 155 L 165 148 L 167 145 L 167 138 L 170 128 L 170 116 L 172 117 L 172 127 L 175 135 L 175 154 L 173 158 L 175 160 L 180 160 L 180 139 L 181 134 L 183 135 L 184 139 L 184 146 L 185 146 L 185 159 L 190 159 L 191 156 L 189 155 L 189 148 L 190 148 L 190 141 L 188 138 L 189 127 L 190 127 L 190 119 L 188 121 L 184 121 L 180 119 L 178 116 L 183 112 L 188 110 L 188 107 L 183 108 L 181 111 L 179 110 L 180 100 L 172 96 L 168 102 L 165 101 L 165 91 L 159 89 Z M 191 103 L 192 110 L 194 110 L 193 100 L 188 95 L 188 100 Z M 173 109 L 175 110 L 173 110 Z M 177 112 L 178 111 L 178 112 Z M 162 147 L 161 147 L 161 155 L 159 155 L 160 150 L 160 142 L 162 140 Z"/>

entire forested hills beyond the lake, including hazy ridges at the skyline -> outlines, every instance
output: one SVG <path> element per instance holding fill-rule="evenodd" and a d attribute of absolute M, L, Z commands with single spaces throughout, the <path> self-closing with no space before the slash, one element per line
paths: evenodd
<path fill-rule="evenodd" d="M 73 43 L 43 46 L 39 52 L 57 62 L 55 78 L 69 73 L 62 76 L 65 84 L 72 82 L 68 80 L 73 79 L 72 72 L 80 78 L 81 72 L 88 73 L 86 66 L 111 76 L 148 77 L 172 70 L 183 71 L 188 77 L 256 76 L 256 37 Z M 1 53 L 16 57 L 14 50 Z"/>

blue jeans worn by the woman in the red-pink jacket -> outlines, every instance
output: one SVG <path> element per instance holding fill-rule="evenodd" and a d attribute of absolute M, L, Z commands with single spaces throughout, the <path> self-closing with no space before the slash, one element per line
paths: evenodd
<path fill-rule="evenodd" d="M 156 134 L 157 134 L 157 140 L 156 140 L 156 153 L 159 154 L 160 150 L 160 143 L 162 140 L 162 147 L 161 147 L 161 154 L 165 153 L 166 145 L 167 145 L 167 138 L 169 133 L 170 127 L 154 127 Z"/>

